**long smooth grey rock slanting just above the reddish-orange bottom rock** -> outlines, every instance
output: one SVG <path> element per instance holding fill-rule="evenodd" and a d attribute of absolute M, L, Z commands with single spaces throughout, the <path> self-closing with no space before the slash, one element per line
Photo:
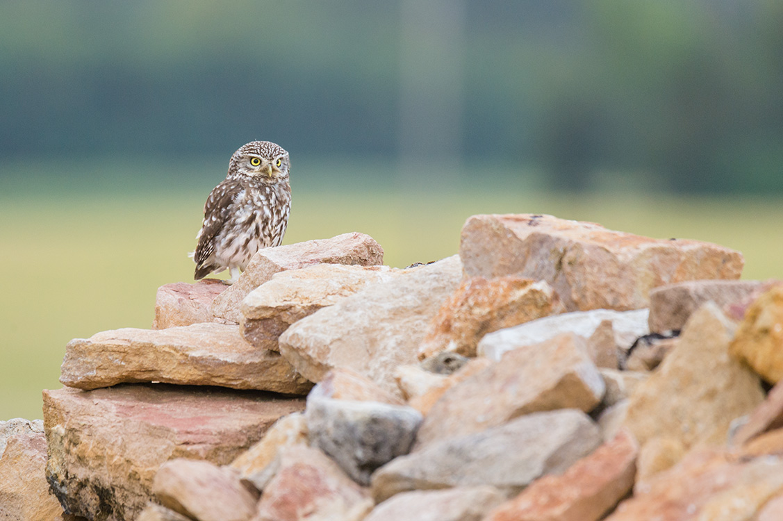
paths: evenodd
<path fill-rule="evenodd" d="M 407 490 L 477 485 L 518 494 L 539 476 L 564 472 L 600 443 L 601 432 L 581 411 L 527 414 L 395 458 L 373 473 L 373 497 L 380 502 Z"/>

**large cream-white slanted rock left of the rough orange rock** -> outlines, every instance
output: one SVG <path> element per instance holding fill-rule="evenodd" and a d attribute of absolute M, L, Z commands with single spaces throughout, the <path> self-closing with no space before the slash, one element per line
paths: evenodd
<path fill-rule="evenodd" d="M 372 284 L 289 327 L 280 335 L 280 353 L 312 382 L 347 367 L 402 396 L 395 368 L 418 361 L 427 324 L 461 278 L 460 258 L 453 255 Z"/>

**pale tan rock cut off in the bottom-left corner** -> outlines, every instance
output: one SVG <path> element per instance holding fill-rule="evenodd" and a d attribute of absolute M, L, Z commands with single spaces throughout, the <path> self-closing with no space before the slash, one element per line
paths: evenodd
<path fill-rule="evenodd" d="M 56 519 L 63 513 L 46 483 L 46 439 L 41 420 L 0 422 L 0 519 Z"/>

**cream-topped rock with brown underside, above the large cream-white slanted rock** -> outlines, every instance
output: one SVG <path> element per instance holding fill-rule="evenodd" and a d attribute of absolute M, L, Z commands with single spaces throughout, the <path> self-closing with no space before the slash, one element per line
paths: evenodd
<path fill-rule="evenodd" d="M 398 273 L 402 270 L 388 266 L 342 264 L 316 264 L 275 273 L 242 301 L 242 335 L 253 346 L 278 351 L 277 338 L 297 320 Z"/>

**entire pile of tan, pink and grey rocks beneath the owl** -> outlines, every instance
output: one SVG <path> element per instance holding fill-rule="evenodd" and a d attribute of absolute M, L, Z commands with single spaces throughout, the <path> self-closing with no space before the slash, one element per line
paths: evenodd
<path fill-rule="evenodd" d="M 783 519 L 783 283 L 737 251 L 476 215 L 382 255 L 269 248 L 69 342 L 0 519 Z"/>

